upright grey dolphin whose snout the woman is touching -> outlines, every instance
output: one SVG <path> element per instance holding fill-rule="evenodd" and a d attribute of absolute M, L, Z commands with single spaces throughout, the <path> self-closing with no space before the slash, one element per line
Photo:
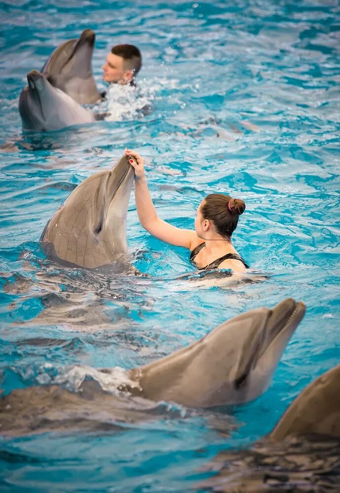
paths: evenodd
<path fill-rule="evenodd" d="M 40 237 L 59 263 L 97 268 L 124 260 L 126 218 L 134 168 L 123 156 L 85 179 L 52 215 Z"/>

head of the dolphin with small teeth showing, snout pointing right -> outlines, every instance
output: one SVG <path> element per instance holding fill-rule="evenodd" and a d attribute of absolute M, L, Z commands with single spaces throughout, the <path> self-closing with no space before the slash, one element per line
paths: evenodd
<path fill-rule="evenodd" d="M 204 406 L 238 404 L 261 395 L 306 311 L 288 298 L 272 310 L 258 308 L 223 323 L 203 341 L 214 365 Z"/>

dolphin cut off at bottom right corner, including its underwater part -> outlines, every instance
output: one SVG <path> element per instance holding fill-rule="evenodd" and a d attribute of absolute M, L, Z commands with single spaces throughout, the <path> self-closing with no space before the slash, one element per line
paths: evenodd
<path fill-rule="evenodd" d="M 340 365 L 309 384 L 272 432 L 248 450 L 221 451 L 197 489 L 339 492 Z"/>

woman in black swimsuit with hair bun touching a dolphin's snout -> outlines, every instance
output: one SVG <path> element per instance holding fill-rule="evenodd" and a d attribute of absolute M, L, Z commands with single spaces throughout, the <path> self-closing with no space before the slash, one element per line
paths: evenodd
<path fill-rule="evenodd" d="M 131 149 L 125 149 L 124 154 L 136 159 L 136 163 L 130 159 L 135 168 L 136 207 L 140 224 L 146 231 L 170 245 L 188 248 L 190 261 L 197 269 L 236 272 L 248 269 L 231 242 L 238 216 L 245 209 L 243 200 L 220 193 L 207 195 L 196 211 L 195 231 L 176 228 L 157 215 L 146 183 L 144 159 Z"/>

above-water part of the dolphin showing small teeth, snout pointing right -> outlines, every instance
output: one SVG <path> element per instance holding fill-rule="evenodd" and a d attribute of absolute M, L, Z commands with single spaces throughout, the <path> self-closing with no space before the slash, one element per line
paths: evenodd
<path fill-rule="evenodd" d="M 130 378 L 151 400 L 189 407 L 250 401 L 269 386 L 305 311 L 304 303 L 289 298 L 272 310 L 251 310 L 187 348 L 130 371 Z"/>

